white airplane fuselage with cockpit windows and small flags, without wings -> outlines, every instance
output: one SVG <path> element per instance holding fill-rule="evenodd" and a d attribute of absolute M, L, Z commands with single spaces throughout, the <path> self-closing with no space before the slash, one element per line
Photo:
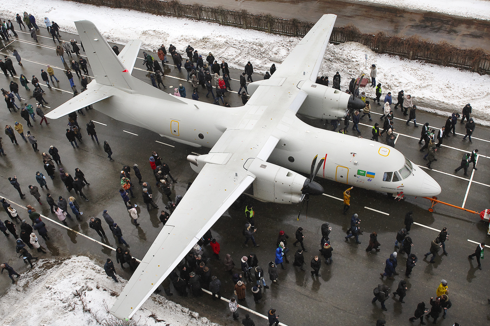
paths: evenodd
<path fill-rule="evenodd" d="M 212 148 L 226 129 L 244 128 L 253 123 L 244 119 L 247 114 L 264 109 L 260 106 L 225 108 L 187 98 L 180 98 L 183 104 L 170 106 L 162 99 L 120 93 L 94 107 L 114 119 L 194 147 Z M 134 110 L 134 105 L 140 109 Z M 432 177 L 394 148 L 315 128 L 296 116 L 287 120 L 284 124 L 287 136 L 272 152 L 271 163 L 308 174 L 312 157 L 319 154 L 325 156 L 325 162 L 317 175 L 325 179 L 386 193 L 403 192 L 408 196 L 435 196 L 441 192 Z"/>

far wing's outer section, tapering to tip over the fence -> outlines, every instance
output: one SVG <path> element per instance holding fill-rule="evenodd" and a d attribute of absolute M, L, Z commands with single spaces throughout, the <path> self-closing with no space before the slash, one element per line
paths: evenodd
<path fill-rule="evenodd" d="M 304 75 L 305 79 L 309 78 L 315 82 L 336 19 L 337 15 L 323 15 L 289 53 L 270 79 Z"/>

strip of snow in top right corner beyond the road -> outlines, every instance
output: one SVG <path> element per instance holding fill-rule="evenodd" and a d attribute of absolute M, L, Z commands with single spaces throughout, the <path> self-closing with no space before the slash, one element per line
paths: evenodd
<path fill-rule="evenodd" d="M 394 7 L 440 12 L 448 15 L 490 20 L 488 0 L 356 0 Z"/>

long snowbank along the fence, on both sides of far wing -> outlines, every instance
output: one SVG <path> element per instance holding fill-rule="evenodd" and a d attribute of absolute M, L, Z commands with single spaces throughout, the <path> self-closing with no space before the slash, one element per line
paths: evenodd
<path fill-rule="evenodd" d="M 409 0 L 400 0 L 400 3 L 401 1 Z M 474 8 L 478 12 L 483 12 L 485 5 L 490 5 L 490 1 L 470 0 L 465 2 L 468 8 L 471 7 L 471 1 L 478 2 L 478 9 Z M 451 3 L 453 2 L 456 1 Z M 448 1 L 444 3 L 449 7 Z M 24 11 L 33 14 L 40 26 L 44 25 L 43 19 L 47 16 L 57 22 L 62 30 L 71 33 L 77 33 L 74 21 L 89 19 L 97 25 L 108 41 L 124 44 L 130 39 L 141 39 L 143 48 L 154 52 L 163 43 L 167 47 L 173 44 L 185 54 L 184 49 L 191 44 L 203 56 L 212 52 L 218 62 L 221 62 L 221 58 L 225 59 L 230 67 L 242 69 L 247 61 L 250 61 L 258 73 L 269 70 L 272 63 L 277 65 L 282 62 L 299 41 L 298 38 L 220 26 L 216 23 L 63 0 L 12 2 L 8 8 L 0 10 L 0 15 L 14 18 L 16 13 L 22 14 Z M 47 34 L 46 29 L 41 29 L 41 33 Z M 339 71 L 342 76 L 341 88 L 344 90 L 348 88 L 352 77 L 357 77 L 363 72 L 369 74 L 369 69 L 365 69 L 365 54 L 368 55 L 368 67 L 371 64 L 378 66 L 376 80 L 383 85 L 383 94 L 391 91 L 395 100 L 398 91 L 403 89 L 405 94 L 412 95 L 413 102 L 419 109 L 442 114 L 460 111 L 470 103 L 475 120 L 490 125 L 488 75 L 480 76 L 452 67 L 376 54 L 359 43 L 330 44 L 320 74 L 329 76 L 332 81 L 332 76 Z M 136 65 L 140 66 L 141 61 L 137 60 Z M 374 95 L 373 88 L 367 87 L 366 90 L 369 96 Z"/>

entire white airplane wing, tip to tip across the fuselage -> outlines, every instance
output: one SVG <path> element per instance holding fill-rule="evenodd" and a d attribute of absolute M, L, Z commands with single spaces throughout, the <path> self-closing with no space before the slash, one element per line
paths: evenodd
<path fill-rule="evenodd" d="M 323 45 L 328 42 L 327 36 L 335 17 L 323 16 L 296 48 L 310 49 L 311 52 L 315 49 L 313 57 L 321 63 L 323 53 L 319 52 L 325 50 L 326 45 Z M 326 28 L 329 30 L 325 31 Z M 317 46 L 320 41 L 323 45 Z M 308 53 L 305 55 L 308 57 Z M 288 60 L 283 67 L 290 65 Z M 247 112 L 236 128 L 226 130 L 206 155 L 196 180 L 112 306 L 110 312 L 114 316 L 131 318 L 234 200 L 255 179 L 264 178 L 261 175 L 274 166 L 266 161 L 279 140 L 287 137 L 295 114 L 307 97 L 304 91 L 296 87 L 298 77 L 301 77 L 296 70 L 303 70 L 304 67 L 294 67 L 293 71 L 291 67 L 287 68 L 282 69 L 284 72 L 279 71 L 282 78 L 278 82 L 257 87 L 245 104 Z M 268 174 L 266 181 L 274 184 L 275 175 L 270 178 Z M 277 193 L 275 190 L 273 192 L 275 196 Z"/>

